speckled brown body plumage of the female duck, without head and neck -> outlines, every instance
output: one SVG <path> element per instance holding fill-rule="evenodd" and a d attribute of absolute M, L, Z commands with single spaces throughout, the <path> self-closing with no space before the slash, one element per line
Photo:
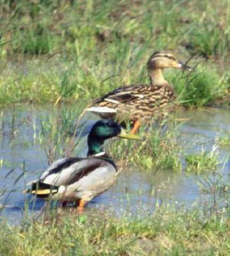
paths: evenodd
<path fill-rule="evenodd" d="M 111 107 L 117 110 L 119 121 L 150 119 L 172 111 L 175 95 L 170 85 L 130 85 L 115 89 L 94 102 L 94 106 Z M 114 118 L 114 114 L 100 113 L 103 118 Z"/>

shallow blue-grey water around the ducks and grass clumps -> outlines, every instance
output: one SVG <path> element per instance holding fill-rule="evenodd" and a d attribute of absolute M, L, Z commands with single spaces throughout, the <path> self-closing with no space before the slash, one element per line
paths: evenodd
<path fill-rule="evenodd" d="M 0 113 L 0 204 L 3 205 L 0 211 L 3 218 L 18 223 L 23 217 L 25 202 L 32 200 L 22 193 L 23 189 L 27 182 L 39 177 L 48 166 L 44 146 L 39 143 L 40 120 L 49 117 L 52 111 L 49 106 L 27 105 L 2 109 Z M 92 120 L 88 122 L 86 130 L 95 121 L 94 117 L 90 119 Z M 186 119 L 178 128 L 178 140 L 184 145 L 186 154 L 210 151 L 214 145 L 218 145 L 218 137 L 230 134 L 229 110 L 181 110 L 177 113 L 177 119 Z M 224 184 L 229 184 L 229 149 L 229 146 L 216 149 L 220 160 L 225 162 L 225 165 L 220 164 L 218 168 L 223 175 Z M 82 151 L 78 154 L 84 153 Z M 185 156 L 181 156 L 181 161 L 185 166 Z M 156 205 L 172 202 L 187 208 L 210 208 L 214 197 L 222 195 L 201 192 L 198 180 L 197 175 L 185 171 L 176 173 L 158 170 L 155 173 L 126 167 L 116 184 L 88 203 L 86 210 L 111 209 L 118 216 L 127 211 L 131 214 L 148 214 L 154 211 Z M 211 177 L 211 180 L 214 178 Z M 44 202 L 39 199 L 36 203 L 29 203 L 29 213 L 38 214 L 43 205 Z"/>

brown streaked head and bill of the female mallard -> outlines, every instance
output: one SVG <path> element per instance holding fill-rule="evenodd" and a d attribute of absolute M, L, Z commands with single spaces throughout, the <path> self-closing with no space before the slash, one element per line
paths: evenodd
<path fill-rule="evenodd" d="M 182 68 L 191 70 L 190 66 L 178 61 L 170 51 L 155 51 L 147 61 L 149 71 L 162 68 Z"/>

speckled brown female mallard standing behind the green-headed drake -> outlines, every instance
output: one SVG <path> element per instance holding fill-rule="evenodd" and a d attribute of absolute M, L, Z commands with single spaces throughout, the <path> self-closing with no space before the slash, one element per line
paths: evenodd
<path fill-rule="evenodd" d="M 177 61 L 168 51 L 156 51 L 147 61 L 150 85 L 129 85 L 109 92 L 95 100 L 94 106 L 86 109 L 102 118 L 117 116 L 118 121 L 128 118 L 133 123 L 134 134 L 140 122 L 151 119 L 153 115 L 164 114 L 173 109 L 175 98 L 173 87 L 163 77 L 164 68 L 182 68 L 190 70 L 189 66 Z"/>

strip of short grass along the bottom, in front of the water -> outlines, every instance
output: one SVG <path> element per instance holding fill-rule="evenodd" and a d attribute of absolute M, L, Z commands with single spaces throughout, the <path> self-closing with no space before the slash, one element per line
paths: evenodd
<path fill-rule="evenodd" d="M 103 215 L 103 218 L 101 218 Z M 1 223 L 1 255 L 229 255 L 229 220 L 160 207 L 149 217 L 106 212 L 12 227 Z"/>

